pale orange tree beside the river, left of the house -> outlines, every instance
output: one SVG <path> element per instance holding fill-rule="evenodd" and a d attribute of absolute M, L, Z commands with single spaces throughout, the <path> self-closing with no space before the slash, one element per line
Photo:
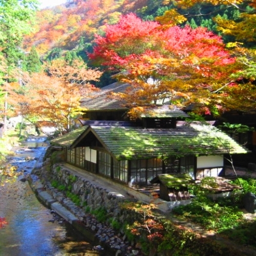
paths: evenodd
<path fill-rule="evenodd" d="M 55 60 L 46 65 L 45 72 L 24 77 L 24 86 L 6 85 L 9 104 L 26 119 L 36 118 L 38 126 L 69 132 L 74 118 L 81 114 L 81 98 L 97 90 L 90 82 L 100 76 L 100 71 L 87 68 L 79 60 L 74 60 L 72 67 Z"/>

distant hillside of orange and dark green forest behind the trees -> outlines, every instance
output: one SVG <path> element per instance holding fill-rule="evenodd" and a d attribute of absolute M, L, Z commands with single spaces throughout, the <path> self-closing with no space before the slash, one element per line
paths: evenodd
<path fill-rule="evenodd" d="M 249 6 L 244 8 L 247 11 L 252 9 Z M 26 36 L 23 47 L 30 50 L 35 46 L 40 55 L 50 60 L 71 50 L 85 57 L 83 50 L 91 50 L 94 35 L 103 35 L 106 25 L 116 24 L 121 15 L 132 12 L 144 21 L 154 21 L 155 17 L 164 15 L 168 10 L 177 10 L 184 15 L 182 19 L 173 15 L 176 24 L 190 25 L 192 28 L 206 27 L 224 35 L 227 42 L 233 38 L 218 30 L 216 19 L 238 21 L 241 20 L 241 12 L 244 12 L 234 6 L 213 6 L 210 3 L 198 3 L 184 9 L 182 5 L 163 0 L 74 0 L 66 5 L 38 11 L 35 31 Z"/>

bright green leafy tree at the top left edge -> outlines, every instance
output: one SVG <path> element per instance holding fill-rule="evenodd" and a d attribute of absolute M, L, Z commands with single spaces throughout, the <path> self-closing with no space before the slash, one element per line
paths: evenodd
<path fill-rule="evenodd" d="M 22 55 L 23 37 L 32 31 L 37 5 L 37 0 L 0 0 L 0 86 L 19 77 L 15 67 Z M 4 123 L 7 120 L 5 96 L 6 93 L 0 94 L 0 113 L 4 115 Z"/>

